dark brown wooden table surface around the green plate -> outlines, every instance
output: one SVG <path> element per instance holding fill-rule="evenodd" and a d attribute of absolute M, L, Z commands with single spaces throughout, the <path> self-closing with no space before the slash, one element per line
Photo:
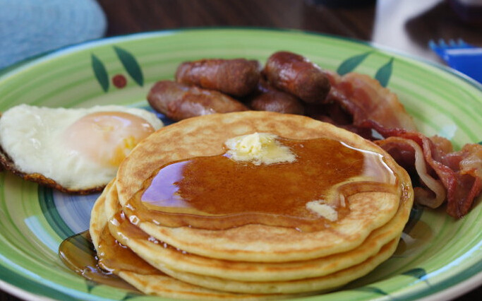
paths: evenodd
<path fill-rule="evenodd" d="M 429 40 L 459 39 L 482 47 L 482 27 L 467 23 L 442 0 L 97 0 L 108 37 L 152 30 L 242 26 L 291 28 L 374 42 L 443 62 Z M 337 2 L 336 5 L 332 4 Z M 482 285 L 458 301 L 480 300 Z M 19 300 L 0 292 L 0 301 Z"/>

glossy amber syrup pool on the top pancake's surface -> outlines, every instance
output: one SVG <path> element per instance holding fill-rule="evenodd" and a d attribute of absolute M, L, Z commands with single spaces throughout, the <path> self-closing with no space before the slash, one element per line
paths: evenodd
<path fill-rule="evenodd" d="M 346 216 L 352 194 L 399 189 L 378 153 L 330 138 L 279 142 L 293 151 L 294 162 L 255 165 L 223 153 L 169 163 L 123 210 L 134 223 L 169 227 L 221 230 L 258 223 L 313 231 Z M 327 218 L 333 212 L 336 218 Z"/>

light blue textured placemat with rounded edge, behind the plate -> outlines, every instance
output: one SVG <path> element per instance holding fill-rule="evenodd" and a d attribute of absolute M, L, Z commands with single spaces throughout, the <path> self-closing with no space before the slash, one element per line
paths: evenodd
<path fill-rule="evenodd" d="M 102 37 L 106 28 L 95 0 L 0 0 L 0 69 Z"/>

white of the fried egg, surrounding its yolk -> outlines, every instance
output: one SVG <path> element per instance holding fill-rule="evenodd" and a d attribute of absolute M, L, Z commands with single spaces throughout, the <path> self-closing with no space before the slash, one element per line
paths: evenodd
<path fill-rule="evenodd" d="M 133 107 L 66 109 L 18 105 L 1 115 L 0 146 L 20 172 L 43 175 L 70 191 L 102 187 L 115 177 L 118 167 L 89 160 L 62 141 L 71 124 L 94 112 L 130 113 L 145 119 L 155 130 L 163 125 L 152 112 Z"/>

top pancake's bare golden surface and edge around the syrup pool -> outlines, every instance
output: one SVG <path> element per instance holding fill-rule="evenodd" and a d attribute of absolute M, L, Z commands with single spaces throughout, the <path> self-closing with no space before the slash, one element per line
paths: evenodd
<path fill-rule="evenodd" d="M 119 201 L 125 206 L 145 179 L 162 165 L 176 160 L 224 153 L 228 138 L 265 132 L 284 138 L 332 138 L 354 148 L 384 156 L 397 177 L 394 191 L 363 192 L 349 197 L 349 214 L 315 232 L 267 225 L 244 225 L 228 230 L 189 227 L 167 228 L 141 220 L 148 234 L 186 252 L 239 261 L 293 261 L 346 252 L 359 246 L 376 228 L 397 212 L 400 202 L 411 203 L 411 183 L 406 172 L 374 143 L 331 124 L 298 115 L 273 112 L 210 114 L 166 126 L 145 138 L 123 161 L 117 174 Z M 296 242 L 296 243 L 294 243 Z"/>

